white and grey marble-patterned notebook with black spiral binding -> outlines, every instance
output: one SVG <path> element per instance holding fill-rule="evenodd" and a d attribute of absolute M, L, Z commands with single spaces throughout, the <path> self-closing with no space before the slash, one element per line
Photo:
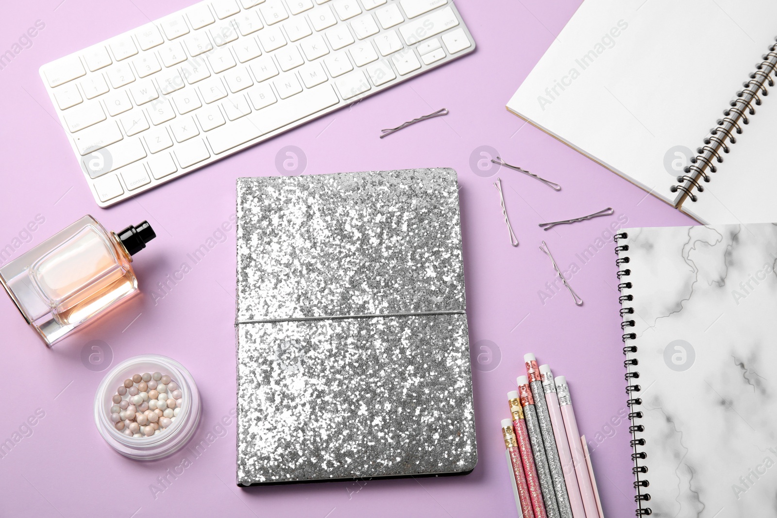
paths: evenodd
<path fill-rule="evenodd" d="M 777 226 L 616 239 L 638 515 L 777 516 Z"/>

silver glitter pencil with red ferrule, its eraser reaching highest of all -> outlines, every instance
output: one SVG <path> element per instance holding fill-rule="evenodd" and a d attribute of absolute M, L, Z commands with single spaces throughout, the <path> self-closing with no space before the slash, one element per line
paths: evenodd
<path fill-rule="evenodd" d="M 542 443 L 545 445 L 545 454 L 548 456 L 550 476 L 553 480 L 553 490 L 556 492 L 556 502 L 559 504 L 561 518 L 573 518 L 570 495 L 566 492 L 564 481 L 564 468 L 559 458 L 559 449 L 556 446 L 556 437 L 553 436 L 553 425 L 550 421 L 548 403 L 545 401 L 545 388 L 542 387 L 542 375 L 539 372 L 537 359 L 531 353 L 524 355 L 526 362 L 526 374 L 529 386 L 535 400 L 535 410 L 539 422 Z"/>

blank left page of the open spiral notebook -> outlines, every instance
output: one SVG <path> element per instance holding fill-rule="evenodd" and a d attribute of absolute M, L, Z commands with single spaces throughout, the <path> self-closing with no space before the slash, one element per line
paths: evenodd
<path fill-rule="evenodd" d="M 676 204 L 672 148 L 702 145 L 775 35 L 777 2 L 586 0 L 507 108 Z"/>

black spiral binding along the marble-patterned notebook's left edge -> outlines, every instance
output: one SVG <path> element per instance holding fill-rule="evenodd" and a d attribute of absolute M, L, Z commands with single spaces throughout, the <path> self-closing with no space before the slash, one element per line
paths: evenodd
<path fill-rule="evenodd" d="M 623 268 L 622 266 L 628 264 L 630 259 L 628 256 L 624 257 L 620 255 L 620 252 L 629 251 L 629 245 L 618 245 L 617 243 L 618 239 L 625 239 L 628 237 L 629 235 L 626 232 L 621 232 L 620 234 L 616 234 L 613 239 L 616 243 L 615 254 L 618 254 L 618 259 L 615 261 L 615 264 L 618 265 L 618 291 L 621 292 L 621 296 L 618 297 L 618 302 L 621 303 L 621 318 L 623 319 L 623 322 L 621 322 L 621 329 L 623 329 L 624 332 L 626 328 L 634 327 L 635 324 L 632 318 L 629 318 L 629 315 L 634 313 L 634 308 L 625 304 L 626 302 L 633 301 L 634 296 L 632 294 L 623 293 L 623 290 L 629 290 L 632 287 L 632 283 L 623 279 L 623 277 L 631 275 L 631 270 Z M 622 336 L 624 343 L 623 354 L 636 353 L 636 346 L 625 345 L 626 340 L 633 340 L 635 338 L 636 334 L 633 332 L 626 332 Z M 623 362 L 623 366 L 626 367 L 626 369 L 633 365 L 639 365 L 639 361 L 636 358 L 631 358 Z M 639 398 L 639 391 L 642 391 L 642 387 L 636 383 L 637 379 L 639 379 L 639 372 L 636 370 L 630 370 L 625 374 L 626 394 L 629 395 L 626 405 L 629 405 L 629 420 L 632 422 L 632 426 L 629 426 L 629 433 L 632 436 L 630 443 L 632 450 L 634 450 L 634 453 L 632 453 L 632 461 L 634 461 L 632 473 L 636 478 L 636 481 L 634 482 L 634 489 L 636 490 L 634 501 L 639 506 L 638 509 L 636 509 L 636 516 L 647 516 L 653 514 L 653 509 L 643 506 L 643 502 L 650 500 L 650 493 L 646 492 L 645 489 L 650 485 L 650 481 L 647 481 L 646 478 L 644 478 L 644 475 L 647 473 L 647 466 L 645 466 L 643 462 L 640 462 L 645 460 L 647 454 L 644 451 L 637 450 L 638 447 L 645 445 L 645 440 L 642 437 L 637 436 L 638 433 L 643 433 L 645 431 L 645 426 L 636 423 L 636 419 L 641 419 L 643 413 L 639 410 L 633 410 L 635 406 L 642 405 L 642 398 Z"/>

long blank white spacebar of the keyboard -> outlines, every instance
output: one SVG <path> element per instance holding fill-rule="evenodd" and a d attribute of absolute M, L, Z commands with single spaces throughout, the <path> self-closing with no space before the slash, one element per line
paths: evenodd
<path fill-rule="evenodd" d="M 267 106 L 232 123 L 207 133 L 213 152 L 218 155 L 240 144 L 287 126 L 308 115 L 320 112 L 340 102 L 331 85 L 307 89 L 280 103 Z"/>

